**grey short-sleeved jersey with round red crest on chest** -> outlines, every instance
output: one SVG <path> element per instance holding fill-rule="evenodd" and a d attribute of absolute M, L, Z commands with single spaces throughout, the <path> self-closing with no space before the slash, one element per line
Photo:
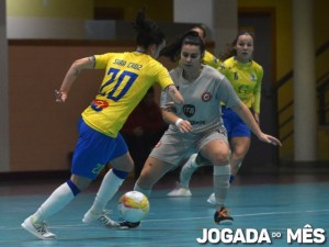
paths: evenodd
<path fill-rule="evenodd" d="M 201 75 L 193 82 L 185 80 L 182 72 L 183 69 L 180 67 L 170 71 L 174 85 L 184 98 L 183 105 L 175 105 L 177 115 L 190 121 L 194 133 L 222 126 L 220 102 L 227 108 L 240 102 L 231 83 L 224 75 L 207 65 L 203 65 Z M 169 97 L 161 98 L 162 106 L 170 101 Z M 175 126 L 170 125 L 170 128 L 174 130 Z"/>

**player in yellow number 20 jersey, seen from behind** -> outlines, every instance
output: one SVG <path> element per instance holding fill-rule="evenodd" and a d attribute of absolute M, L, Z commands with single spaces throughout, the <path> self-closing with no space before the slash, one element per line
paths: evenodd
<path fill-rule="evenodd" d="M 94 202 L 82 220 L 86 224 L 105 227 L 132 227 L 128 222 L 114 222 L 105 206 L 124 179 L 133 170 L 133 159 L 118 131 L 148 89 L 159 83 L 173 101 L 183 98 L 171 80 L 168 70 L 155 58 L 166 45 L 158 25 L 140 10 L 133 23 L 137 31 L 135 52 L 107 53 L 76 60 L 57 91 L 57 102 L 65 102 L 71 86 L 83 69 L 103 69 L 104 78 L 99 93 L 82 112 L 79 122 L 79 139 L 73 151 L 71 177 L 29 216 L 22 227 L 41 239 L 54 239 L 45 221 L 68 205 L 77 194 L 86 190 L 98 175 L 111 162 L 113 169 L 103 178 Z"/>

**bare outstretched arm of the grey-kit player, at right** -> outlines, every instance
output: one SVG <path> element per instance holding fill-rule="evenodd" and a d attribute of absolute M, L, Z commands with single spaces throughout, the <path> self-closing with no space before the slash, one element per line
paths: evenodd
<path fill-rule="evenodd" d="M 252 116 L 252 113 L 247 108 L 247 105 L 242 102 L 231 106 L 231 110 L 235 111 L 243 122 L 250 127 L 252 133 L 262 142 L 270 143 L 274 146 L 282 146 L 281 142 L 271 135 L 266 135 L 262 133 L 256 120 Z"/>

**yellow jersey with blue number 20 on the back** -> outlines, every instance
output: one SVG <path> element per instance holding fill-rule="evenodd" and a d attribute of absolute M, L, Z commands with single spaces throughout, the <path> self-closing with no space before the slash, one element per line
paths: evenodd
<path fill-rule="evenodd" d="M 111 137 L 118 131 L 147 90 L 158 82 L 162 89 L 172 85 L 168 70 L 147 54 L 107 53 L 94 55 L 95 69 L 105 75 L 99 93 L 82 112 L 93 130 Z"/>

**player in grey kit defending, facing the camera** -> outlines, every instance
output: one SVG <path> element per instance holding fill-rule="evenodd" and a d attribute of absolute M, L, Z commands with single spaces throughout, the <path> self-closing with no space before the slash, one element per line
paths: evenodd
<path fill-rule="evenodd" d="M 259 139 L 279 146 L 281 143 L 261 132 L 226 77 L 202 64 L 204 50 L 204 43 L 193 31 L 161 50 L 161 55 L 173 61 L 179 60 L 179 66 L 170 71 L 170 76 L 184 97 L 184 104 L 168 108 L 168 97 L 161 97 L 164 101 L 161 102 L 162 116 L 170 126 L 147 158 L 134 189 L 149 195 L 154 184 L 169 170 L 193 153 L 200 153 L 214 166 L 214 220 L 217 224 L 231 224 L 232 217 L 225 207 L 230 166 L 229 145 L 220 119 L 220 102 L 231 108 Z"/>

